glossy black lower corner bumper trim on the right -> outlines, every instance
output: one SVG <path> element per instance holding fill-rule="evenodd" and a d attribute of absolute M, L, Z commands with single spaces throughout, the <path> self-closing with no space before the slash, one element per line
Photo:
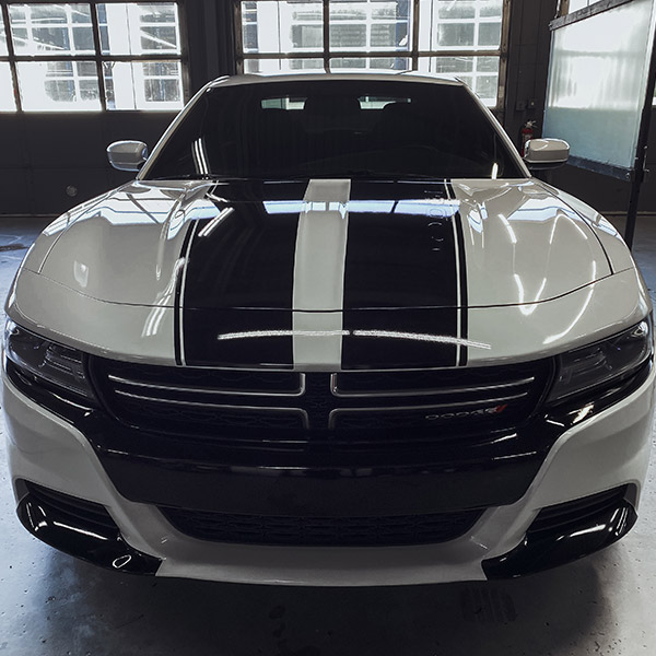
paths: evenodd
<path fill-rule="evenodd" d="M 540 511 L 522 542 L 482 563 L 488 578 L 515 578 L 573 562 L 609 547 L 633 528 L 637 513 L 623 485 Z"/>

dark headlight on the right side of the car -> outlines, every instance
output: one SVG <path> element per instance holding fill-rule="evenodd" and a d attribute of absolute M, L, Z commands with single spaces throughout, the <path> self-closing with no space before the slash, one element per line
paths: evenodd
<path fill-rule="evenodd" d="M 610 339 L 559 355 L 555 383 L 548 401 L 560 401 L 586 389 L 630 375 L 652 356 L 652 319 Z"/>

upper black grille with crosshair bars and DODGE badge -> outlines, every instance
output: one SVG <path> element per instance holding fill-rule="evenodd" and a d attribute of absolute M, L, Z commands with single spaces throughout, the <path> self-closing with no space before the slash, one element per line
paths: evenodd
<path fill-rule="evenodd" d="M 551 361 L 405 372 L 296 373 L 154 366 L 91 358 L 92 378 L 122 423 L 175 434 L 291 431 L 296 441 L 352 432 L 376 440 L 402 429 L 433 434 L 506 429 L 537 408 Z"/>

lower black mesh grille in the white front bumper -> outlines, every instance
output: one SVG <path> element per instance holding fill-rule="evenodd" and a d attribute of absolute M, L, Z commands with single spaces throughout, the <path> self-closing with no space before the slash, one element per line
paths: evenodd
<path fill-rule="evenodd" d="M 462 536 L 483 512 L 336 518 L 160 509 L 177 530 L 200 540 L 300 547 L 434 544 Z"/>

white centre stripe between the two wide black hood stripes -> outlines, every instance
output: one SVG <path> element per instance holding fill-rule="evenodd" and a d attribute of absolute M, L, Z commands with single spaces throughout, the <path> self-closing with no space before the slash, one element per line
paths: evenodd
<path fill-rule="evenodd" d="M 294 367 L 341 367 L 349 179 L 309 180 L 298 218 L 292 292 Z"/>

